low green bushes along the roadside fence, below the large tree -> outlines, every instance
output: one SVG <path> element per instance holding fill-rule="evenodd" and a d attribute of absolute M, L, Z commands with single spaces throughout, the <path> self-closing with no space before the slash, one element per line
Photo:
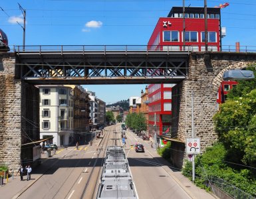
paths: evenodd
<path fill-rule="evenodd" d="M 195 157 L 195 184 L 205 190 L 210 190 L 207 186 L 208 179 L 221 178 L 227 183 L 233 184 L 244 192 L 256 196 L 256 175 L 247 167 L 230 164 L 225 161 L 227 151 L 223 144 L 217 143 L 213 147 L 206 149 L 203 155 Z M 192 163 L 186 162 L 182 169 L 182 174 L 192 179 Z M 230 189 L 230 188 L 229 188 Z M 233 191 L 225 190 L 227 192 Z"/>

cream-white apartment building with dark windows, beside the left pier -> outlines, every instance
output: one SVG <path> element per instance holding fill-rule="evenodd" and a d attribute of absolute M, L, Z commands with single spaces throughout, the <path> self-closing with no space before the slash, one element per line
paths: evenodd
<path fill-rule="evenodd" d="M 38 86 L 40 93 L 40 138 L 58 146 L 68 145 L 74 132 L 74 96 L 68 86 Z"/>

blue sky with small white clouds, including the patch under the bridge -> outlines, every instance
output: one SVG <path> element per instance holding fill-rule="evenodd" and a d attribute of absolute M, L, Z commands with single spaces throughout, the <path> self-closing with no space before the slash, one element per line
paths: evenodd
<path fill-rule="evenodd" d="M 240 42 L 255 49 L 256 1 L 207 0 L 207 7 L 226 2 L 229 6 L 221 9 L 221 27 L 227 30 L 222 45 Z M 185 5 L 203 7 L 203 0 L 185 0 Z M 167 17 L 173 6 L 182 6 L 182 0 L 1 1 L 0 29 L 10 47 L 22 45 L 25 9 L 26 45 L 146 45 L 158 19 Z M 146 85 L 84 87 L 108 104 L 140 96 Z"/>

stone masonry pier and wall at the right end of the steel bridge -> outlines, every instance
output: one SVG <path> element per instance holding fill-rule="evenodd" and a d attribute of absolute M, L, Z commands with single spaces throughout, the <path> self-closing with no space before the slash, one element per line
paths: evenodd
<path fill-rule="evenodd" d="M 186 142 L 192 137 L 192 91 L 194 137 L 201 139 L 201 151 L 217 140 L 213 115 L 217 112 L 217 90 L 223 73 L 231 69 L 246 68 L 256 64 L 256 54 L 194 52 L 190 56 L 189 76 L 180 83 L 180 113 L 178 139 Z"/>

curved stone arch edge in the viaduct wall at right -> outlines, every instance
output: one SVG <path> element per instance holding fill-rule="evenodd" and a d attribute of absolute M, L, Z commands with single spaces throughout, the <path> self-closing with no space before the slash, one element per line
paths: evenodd
<path fill-rule="evenodd" d="M 223 70 L 221 70 L 219 72 L 219 74 L 217 74 L 217 76 L 215 76 L 215 78 L 213 78 L 213 81 L 212 81 L 213 92 L 217 93 L 217 91 L 219 90 L 219 86 L 221 85 L 221 82 L 223 81 L 224 72 L 226 72 L 227 70 L 233 70 L 233 69 L 241 70 L 243 68 L 247 68 L 249 66 L 249 64 L 256 64 L 256 62 L 235 62 L 233 64 L 230 64 L 226 68 L 223 68 Z"/>

